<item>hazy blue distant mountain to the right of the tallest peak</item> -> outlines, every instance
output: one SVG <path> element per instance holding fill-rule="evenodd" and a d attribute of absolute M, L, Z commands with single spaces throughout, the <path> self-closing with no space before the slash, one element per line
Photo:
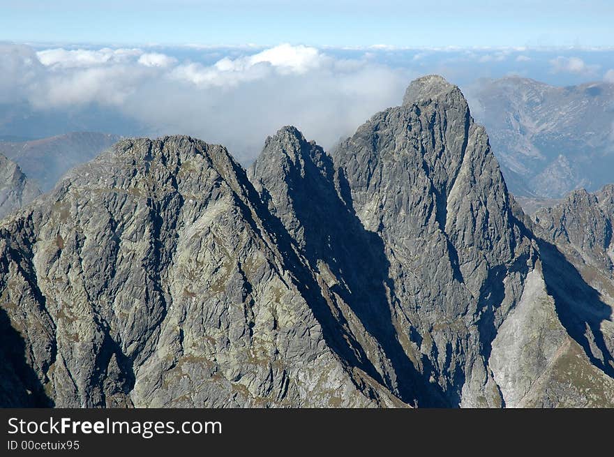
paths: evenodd
<path fill-rule="evenodd" d="M 479 80 L 470 94 L 515 195 L 560 198 L 611 181 L 614 84 L 554 87 L 505 77 Z"/>

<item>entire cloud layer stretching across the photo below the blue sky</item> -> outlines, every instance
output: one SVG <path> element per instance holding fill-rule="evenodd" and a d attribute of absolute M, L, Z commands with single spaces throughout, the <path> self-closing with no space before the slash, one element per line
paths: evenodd
<path fill-rule="evenodd" d="M 193 135 L 225 144 L 249 163 L 264 138 L 287 124 L 331 147 L 373 113 L 398 105 L 410 80 L 424 73 L 440 73 L 463 85 L 480 76 L 501 77 L 518 66 L 523 71 L 514 73 L 525 75 L 531 67 L 526 74 L 531 77 L 536 77 L 533 67 L 539 67 L 549 82 L 566 80 L 567 73 L 614 81 L 613 70 L 597 73 L 599 66 L 578 57 L 548 60 L 557 54 L 494 48 L 340 50 L 289 44 L 35 51 L 0 43 L 0 128 L 3 134 L 10 132 L 14 121 L 36 132 L 36 121 L 24 119 L 38 114 L 36 119 L 75 120 L 82 130 L 114 131 L 118 119 L 126 119 L 122 128 L 135 125 L 138 134 Z M 516 63 L 529 57 L 531 66 Z M 13 110 L 10 116 L 7 106 Z M 127 131 L 126 127 L 121 133 Z"/>

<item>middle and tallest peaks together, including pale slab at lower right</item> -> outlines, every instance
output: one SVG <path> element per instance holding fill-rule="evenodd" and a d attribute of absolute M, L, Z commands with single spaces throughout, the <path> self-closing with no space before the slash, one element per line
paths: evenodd
<path fill-rule="evenodd" d="M 610 378 L 560 320 L 541 241 L 507 194 L 458 88 L 440 77 L 417 80 L 403 106 L 376 114 L 331 158 L 284 128 L 250 176 L 335 288 L 336 313 L 365 348 L 374 377 L 407 403 L 613 400 Z M 561 391 L 566 357 L 605 393 Z"/>

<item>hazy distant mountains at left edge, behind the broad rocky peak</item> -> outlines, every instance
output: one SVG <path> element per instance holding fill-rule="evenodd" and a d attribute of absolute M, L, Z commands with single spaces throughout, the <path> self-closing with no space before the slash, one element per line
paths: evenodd
<path fill-rule="evenodd" d="M 27 177 L 47 192 L 68 170 L 95 158 L 119 139 L 107 133 L 75 132 L 41 140 L 0 141 L 0 153 L 17 162 Z"/>

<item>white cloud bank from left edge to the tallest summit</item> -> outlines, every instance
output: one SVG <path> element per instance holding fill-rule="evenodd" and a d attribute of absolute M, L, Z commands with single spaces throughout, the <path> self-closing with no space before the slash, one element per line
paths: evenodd
<path fill-rule="evenodd" d="M 0 102 L 25 100 L 36 110 L 113 107 L 151 135 L 197 136 L 248 161 L 286 124 L 330 147 L 373 113 L 398 105 L 416 76 L 302 45 L 250 52 L 204 65 L 140 49 L 0 45 Z"/>

